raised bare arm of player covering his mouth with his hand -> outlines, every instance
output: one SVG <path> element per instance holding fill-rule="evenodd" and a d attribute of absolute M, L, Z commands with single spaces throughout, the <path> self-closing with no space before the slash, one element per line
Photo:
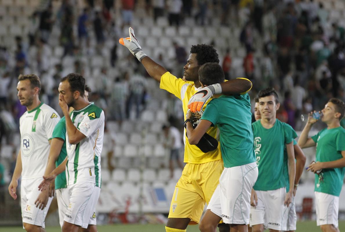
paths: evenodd
<path fill-rule="evenodd" d="M 77 129 L 77 127 L 73 125 L 72 120 L 69 117 L 68 105 L 63 95 L 59 96 L 59 105 L 62 109 L 63 115 L 66 118 L 66 131 L 68 134 L 68 142 L 70 144 L 78 144 L 82 139 L 86 138 L 86 136 L 83 133 L 81 133 Z"/>

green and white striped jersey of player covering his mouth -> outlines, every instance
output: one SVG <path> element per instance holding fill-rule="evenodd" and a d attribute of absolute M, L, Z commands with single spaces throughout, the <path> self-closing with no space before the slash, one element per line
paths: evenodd
<path fill-rule="evenodd" d="M 101 187 L 104 112 L 90 103 L 81 110 L 73 110 L 70 116 L 75 127 L 86 138 L 78 144 L 70 144 L 66 133 L 67 185 L 75 184 L 78 181 L 78 183 L 95 183 L 96 186 Z"/>

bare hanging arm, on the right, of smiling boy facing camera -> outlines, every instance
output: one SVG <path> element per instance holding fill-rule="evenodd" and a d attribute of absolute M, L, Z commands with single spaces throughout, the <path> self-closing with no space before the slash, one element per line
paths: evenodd
<path fill-rule="evenodd" d="M 293 142 L 286 144 L 286 152 L 287 152 L 287 159 L 288 159 L 290 189 L 289 189 L 289 192 L 286 193 L 284 204 L 289 206 L 292 200 L 293 192 L 294 192 L 295 175 L 296 175 L 296 163 L 295 163 L 295 153 L 294 153 Z"/>

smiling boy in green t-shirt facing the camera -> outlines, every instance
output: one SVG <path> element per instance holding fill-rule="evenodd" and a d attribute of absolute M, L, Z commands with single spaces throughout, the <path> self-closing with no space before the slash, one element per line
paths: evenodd
<path fill-rule="evenodd" d="M 262 119 L 252 124 L 254 151 L 259 168 L 258 180 L 253 187 L 251 198 L 256 205 L 250 209 L 250 226 L 253 231 L 263 231 L 264 224 L 270 231 L 286 230 L 286 224 L 282 221 L 286 207 L 293 198 L 296 168 L 293 139 L 297 134 L 290 125 L 276 119 L 279 106 L 278 95 L 273 88 L 259 92 Z M 290 186 L 288 192 L 283 172 L 285 146 Z"/>

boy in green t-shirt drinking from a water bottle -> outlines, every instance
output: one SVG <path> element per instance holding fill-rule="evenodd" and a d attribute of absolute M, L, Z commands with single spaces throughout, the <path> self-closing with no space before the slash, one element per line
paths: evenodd
<path fill-rule="evenodd" d="M 345 114 L 345 104 L 331 98 L 322 113 L 321 120 L 327 128 L 308 138 L 317 121 L 311 112 L 298 145 L 302 148 L 316 146 L 316 163 L 311 163 L 307 169 L 315 173 L 316 224 L 322 231 L 339 231 L 339 195 L 345 173 L 345 129 L 340 126 L 340 120 Z"/>

